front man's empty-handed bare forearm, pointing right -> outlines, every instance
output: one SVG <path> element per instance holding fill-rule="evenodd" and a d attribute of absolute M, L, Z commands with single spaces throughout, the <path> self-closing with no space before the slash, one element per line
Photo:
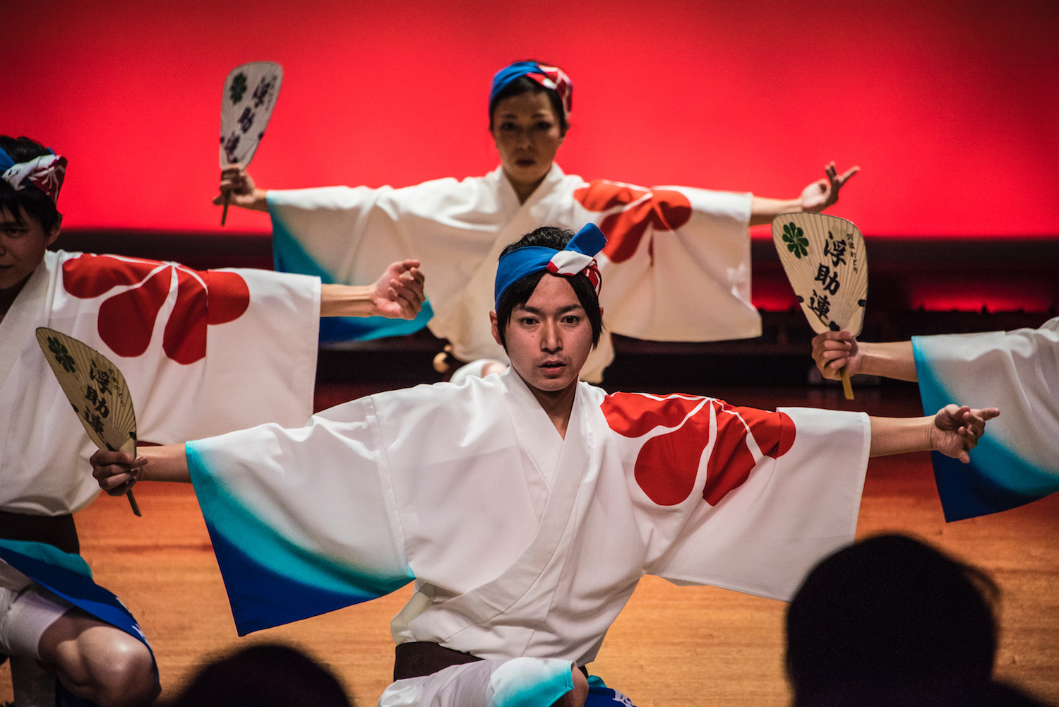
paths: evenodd
<path fill-rule="evenodd" d="M 985 434 L 986 421 L 1000 410 L 994 407 L 972 409 L 947 405 L 934 417 L 870 418 L 870 456 L 882 457 L 905 452 L 940 452 L 947 457 L 970 462 L 968 454 Z"/>

